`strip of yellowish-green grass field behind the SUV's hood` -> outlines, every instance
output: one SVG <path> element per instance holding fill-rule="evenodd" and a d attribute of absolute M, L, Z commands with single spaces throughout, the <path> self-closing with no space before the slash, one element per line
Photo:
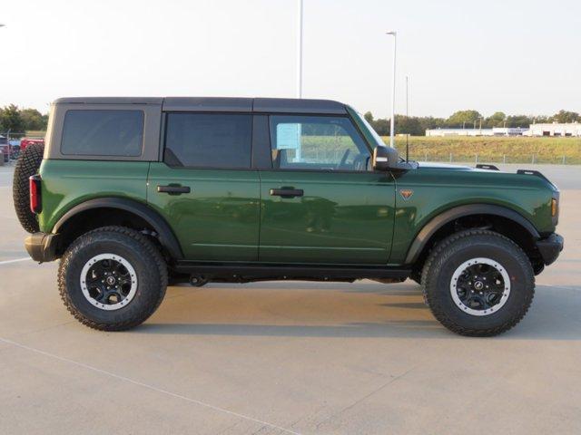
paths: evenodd
<path fill-rule="evenodd" d="M 389 143 L 389 137 L 383 140 Z M 405 155 L 406 138 L 397 137 L 396 147 Z M 482 163 L 581 164 L 581 138 L 526 137 L 409 137 L 409 158 L 430 161 L 468 161 Z M 534 157 L 533 157 L 534 156 Z"/>

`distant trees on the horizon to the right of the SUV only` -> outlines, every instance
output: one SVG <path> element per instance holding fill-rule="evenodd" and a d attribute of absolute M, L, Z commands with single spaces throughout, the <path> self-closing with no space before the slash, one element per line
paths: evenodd
<path fill-rule="evenodd" d="M 389 119 L 375 119 L 368 111 L 365 119 L 381 136 L 389 136 Z M 491 116 L 484 117 L 478 111 L 456 111 L 448 118 L 434 118 L 432 116 L 405 116 L 396 114 L 396 134 L 423 136 L 428 129 L 491 129 L 493 127 L 524 127 L 542 122 L 576 122 L 581 116 L 575 111 L 558 111 L 553 116 L 507 115 L 497 111 Z"/>

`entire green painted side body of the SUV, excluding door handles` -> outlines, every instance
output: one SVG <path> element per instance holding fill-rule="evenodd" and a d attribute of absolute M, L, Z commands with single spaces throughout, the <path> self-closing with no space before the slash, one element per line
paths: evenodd
<path fill-rule="evenodd" d="M 364 127 L 364 126 L 359 126 Z M 148 180 L 149 170 L 149 183 Z M 166 219 L 187 259 L 399 265 L 439 213 L 466 204 L 515 210 L 539 233 L 555 230 L 546 180 L 458 166 L 380 172 L 172 169 L 161 162 L 44 160 L 41 230 L 92 198 L 131 198 Z M 179 196 L 158 185 L 189 186 Z M 303 189 L 281 198 L 270 189 Z M 413 194 L 404 199 L 400 191 Z M 260 245 L 260 247 L 259 247 Z"/>

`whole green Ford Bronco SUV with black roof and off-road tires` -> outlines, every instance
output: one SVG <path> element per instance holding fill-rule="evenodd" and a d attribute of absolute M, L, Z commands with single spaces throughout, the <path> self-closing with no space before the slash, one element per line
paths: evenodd
<path fill-rule="evenodd" d="M 441 324 L 494 335 L 563 248 L 542 174 L 402 160 L 340 102 L 66 98 L 41 147 L 15 169 L 26 249 L 105 331 L 174 283 L 410 278 Z"/>

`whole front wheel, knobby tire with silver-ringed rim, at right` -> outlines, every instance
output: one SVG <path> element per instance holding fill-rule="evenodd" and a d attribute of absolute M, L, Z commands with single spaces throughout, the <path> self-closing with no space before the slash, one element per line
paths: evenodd
<path fill-rule="evenodd" d="M 493 231 L 454 234 L 430 253 L 422 272 L 434 316 L 462 335 L 504 333 L 527 314 L 535 275 L 527 255 Z"/>

